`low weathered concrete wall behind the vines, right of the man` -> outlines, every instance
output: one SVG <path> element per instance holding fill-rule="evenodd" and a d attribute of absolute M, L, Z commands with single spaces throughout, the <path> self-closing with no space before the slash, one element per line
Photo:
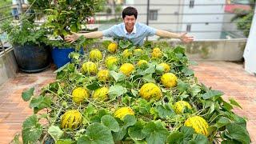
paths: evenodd
<path fill-rule="evenodd" d="M 242 61 L 242 54 L 246 46 L 246 38 L 200 40 L 190 44 L 170 42 L 172 46 L 178 44 L 186 46 L 186 54 L 194 61 Z"/>

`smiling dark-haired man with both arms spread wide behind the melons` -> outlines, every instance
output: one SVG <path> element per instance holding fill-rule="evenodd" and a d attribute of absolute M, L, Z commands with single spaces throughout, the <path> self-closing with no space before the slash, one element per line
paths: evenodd
<path fill-rule="evenodd" d="M 144 38 L 147 36 L 158 35 L 159 37 L 164 38 L 178 38 L 182 42 L 192 42 L 193 37 L 184 34 L 171 33 L 166 30 L 156 30 L 153 27 L 146 26 L 145 24 L 136 22 L 138 11 L 134 7 L 126 7 L 122 10 L 122 19 L 123 23 L 112 26 L 107 30 L 95 31 L 86 34 L 77 34 L 73 33 L 68 35 L 65 40 L 66 42 L 74 42 L 80 36 L 85 38 L 102 38 L 112 37 L 112 38 L 125 38 L 134 43 L 134 45 L 142 46 Z"/>

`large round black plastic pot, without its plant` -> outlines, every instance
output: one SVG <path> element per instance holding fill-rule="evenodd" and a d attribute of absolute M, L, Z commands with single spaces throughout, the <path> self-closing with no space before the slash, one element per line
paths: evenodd
<path fill-rule="evenodd" d="M 50 66 L 50 49 L 46 46 L 14 46 L 19 70 L 27 73 L 40 72 Z"/>

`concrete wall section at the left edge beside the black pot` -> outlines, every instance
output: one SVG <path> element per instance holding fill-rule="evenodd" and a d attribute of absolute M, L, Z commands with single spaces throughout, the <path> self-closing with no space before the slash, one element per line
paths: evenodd
<path fill-rule="evenodd" d="M 14 56 L 14 50 L 10 47 L 5 52 L 0 53 L 0 86 L 8 80 L 14 78 L 18 66 Z"/>

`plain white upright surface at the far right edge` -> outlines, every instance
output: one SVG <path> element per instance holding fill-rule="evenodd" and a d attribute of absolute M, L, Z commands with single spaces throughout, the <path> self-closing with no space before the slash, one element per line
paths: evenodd
<path fill-rule="evenodd" d="M 256 3 L 255 3 L 256 6 Z M 245 70 L 256 76 L 256 8 L 254 7 L 254 18 L 250 26 L 250 34 L 247 38 L 246 49 L 244 50 L 243 57 L 245 58 Z"/>

